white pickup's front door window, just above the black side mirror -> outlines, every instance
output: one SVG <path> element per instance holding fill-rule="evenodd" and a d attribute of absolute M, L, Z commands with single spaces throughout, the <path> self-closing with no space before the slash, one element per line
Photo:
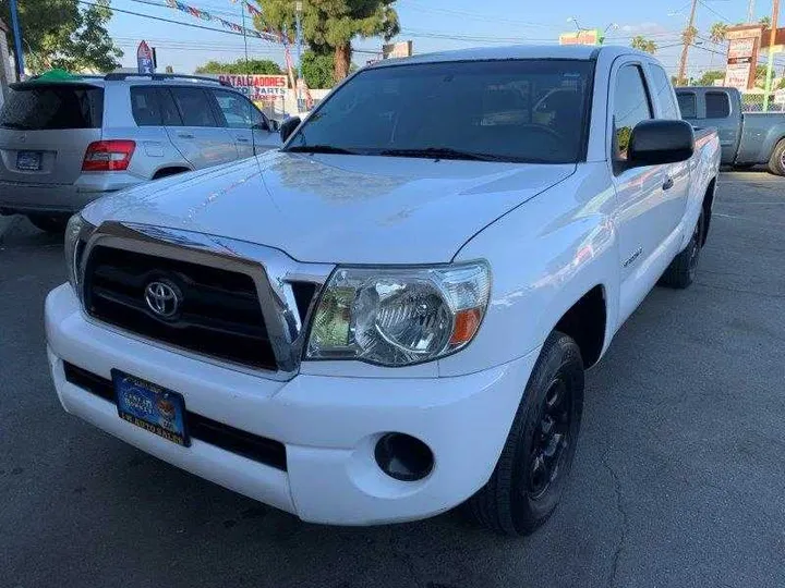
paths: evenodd
<path fill-rule="evenodd" d="M 624 65 L 616 74 L 614 94 L 614 148 L 616 157 L 627 159 L 632 130 L 641 121 L 652 119 L 643 71 L 639 65 Z"/>

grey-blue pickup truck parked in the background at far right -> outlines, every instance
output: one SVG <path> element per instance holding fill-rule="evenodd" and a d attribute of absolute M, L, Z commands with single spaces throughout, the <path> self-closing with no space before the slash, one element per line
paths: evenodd
<path fill-rule="evenodd" d="M 747 169 L 765 164 L 785 175 L 785 112 L 741 112 L 736 88 L 676 88 L 681 118 L 720 134 L 722 164 Z"/>

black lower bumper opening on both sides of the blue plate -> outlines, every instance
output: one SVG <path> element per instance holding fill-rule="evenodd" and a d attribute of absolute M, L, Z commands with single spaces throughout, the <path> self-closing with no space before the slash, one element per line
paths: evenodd
<path fill-rule="evenodd" d="M 65 380 L 70 383 L 112 404 L 116 402 L 114 384 L 112 384 L 111 380 L 101 378 L 68 362 L 63 363 L 63 369 Z M 276 469 L 287 470 L 286 446 L 279 441 L 235 429 L 190 411 L 185 411 L 185 420 L 188 421 L 189 432 L 194 439 Z"/>

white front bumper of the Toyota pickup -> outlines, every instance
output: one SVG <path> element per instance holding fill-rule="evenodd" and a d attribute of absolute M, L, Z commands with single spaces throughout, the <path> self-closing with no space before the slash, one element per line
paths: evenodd
<path fill-rule="evenodd" d="M 370 525 L 435 515 L 488 479 L 539 350 L 485 371 L 452 378 L 299 375 L 273 381 L 146 344 L 87 320 L 70 285 L 46 302 L 55 387 L 65 411 L 226 488 L 300 518 Z M 65 380 L 63 362 L 109 379 L 112 368 L 180 392 L 189 411 L 286 446 L 286 470 L 193 440 L 181 448 L 117 415 L 113 403 Z M 424 441 L 435 466 L 397 481 L 376 465 L 386 432 Z"/>

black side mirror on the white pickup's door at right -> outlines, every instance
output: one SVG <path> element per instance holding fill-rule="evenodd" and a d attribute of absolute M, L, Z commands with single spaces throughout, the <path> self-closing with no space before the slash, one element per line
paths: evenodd
<path fill-rule="evenodd" d="M 695 132 L 685 121 L 642 121 L 636 125 L 627 148 L 627 166 L 677 163 L 692 157 Z"/>

